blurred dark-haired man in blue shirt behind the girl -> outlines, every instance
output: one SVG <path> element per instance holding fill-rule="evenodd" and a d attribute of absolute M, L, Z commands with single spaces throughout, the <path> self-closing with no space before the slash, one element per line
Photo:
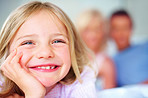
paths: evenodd
<path fill-rule="evenodd" d="M 110 35 L 118 48 L 114 57 L 118 86 L 146 83 L 148 80 L 148 43 L 131 45 L 132 30 L 132 19 L 125 10 L 111 15 Z"/>

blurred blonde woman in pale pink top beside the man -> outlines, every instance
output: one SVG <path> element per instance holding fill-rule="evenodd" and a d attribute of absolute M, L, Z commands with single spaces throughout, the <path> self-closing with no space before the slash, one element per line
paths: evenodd
<path fill-rule="evenodd" d="M 115 87 L 114 63 L 105 53 L 107 40 L 105 22 L 101 13 L 97 10 L 87 10 L 81 13 L 76 26 L 81 38 L 95 54 L 93 67 L 97 72 L 97 90 Z M 91 54 L 88 53 L 89 55 Z"/>

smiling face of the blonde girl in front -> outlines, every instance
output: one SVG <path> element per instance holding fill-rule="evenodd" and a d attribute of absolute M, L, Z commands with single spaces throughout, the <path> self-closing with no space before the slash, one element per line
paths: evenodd
<path fill-rule="evenodd" d="M 69 41 L 64 25 L 46 10 L 31 15 L 10 42 L 9 52 L 22 52 L 20 65 L 51 87 L 64 78 L 71 67 Z"/>

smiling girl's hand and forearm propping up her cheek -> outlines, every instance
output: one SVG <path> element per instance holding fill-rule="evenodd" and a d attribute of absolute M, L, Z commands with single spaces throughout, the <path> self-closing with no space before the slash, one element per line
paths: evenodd
<path fill-rule="evenodd" d="M 14 81 L 25 93 L 25 98 L 41 98 L 45 96 L 45 87 L 20 65 L 23 53 L 14 50 L 1 65 L 3 74 Z"/>

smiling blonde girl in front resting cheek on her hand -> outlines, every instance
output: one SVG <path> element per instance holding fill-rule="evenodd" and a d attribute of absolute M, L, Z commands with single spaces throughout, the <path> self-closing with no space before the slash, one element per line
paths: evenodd
<path fill-rule="evenodd" d="M 27 3 L 0 32 L 0 97 L 96 97 L 87 48 L 67 15 L 49 2 Z"/>

